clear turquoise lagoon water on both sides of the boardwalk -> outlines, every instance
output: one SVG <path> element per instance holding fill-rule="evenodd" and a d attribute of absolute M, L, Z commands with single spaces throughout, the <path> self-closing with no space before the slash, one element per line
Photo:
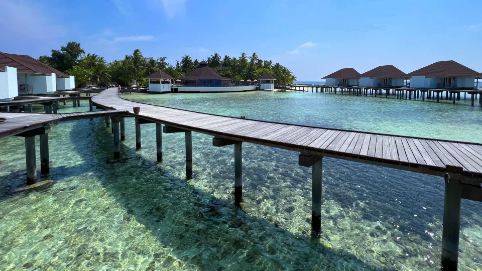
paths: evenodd
<path fill-rule="evenodd" d="M 232 116 L 482 142 L 481 108 L 469 101 L 306 92 L 123 97 Z M 60 112 L 88 110 L 86 101 L 81 105 Z M 51 173 L 28 190 L 23 139 L 0 141 L 0 269 L 439 266 L 439 177 L 325 158 L 322 234 L 312 238 L 311 171 L 297 166 L 295 152 L 245 143 L 238 209 L 233 150 L 212 147 L 207 135 L 193 133 L 194 178 L 188 181 L 184 136 L 163 134 L 164 161 L 157 164 L 154 124 L 143 124 L 143 149 L 136 152 L 134 121 L 126 121 L 121 152 L 127 159 L 115 164 L 106 163 L 112 135 L 101 119 L 56 124 L 49 137 Z M 481 207 L 462 201 L 461 270 L 482 269 Z"/>

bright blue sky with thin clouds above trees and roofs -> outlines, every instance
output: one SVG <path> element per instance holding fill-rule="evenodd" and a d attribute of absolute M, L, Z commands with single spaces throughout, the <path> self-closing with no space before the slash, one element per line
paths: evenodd
<path fill-rule="evenodd" d="M 340 68 L 439 60 L 482 71 L 482 1 L 0 0 L 0 51 L 38 57 L 68 41 L 107 61 L 256 52 L 299 80 Z"/>

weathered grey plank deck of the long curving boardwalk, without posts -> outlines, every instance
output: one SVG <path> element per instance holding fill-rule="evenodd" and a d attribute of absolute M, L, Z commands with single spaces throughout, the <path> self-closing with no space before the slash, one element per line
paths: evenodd
<path fill-rule="evenodd" d="M 446 165 L 459 166 L 466 175 L 482 177 L 482 146 L 477 143 L 206 114 L 128 101 L 118 97 L 118 90 L 113 88 L 92 97 L 92 101 L 105 108 L 129 111 L 131 116 L 135 115 L 133 107 L 139 106 L 137 117 L 237 141 L 386 167 L 399 165 L 404 170 L 433 175 L 444 172 Z"/>

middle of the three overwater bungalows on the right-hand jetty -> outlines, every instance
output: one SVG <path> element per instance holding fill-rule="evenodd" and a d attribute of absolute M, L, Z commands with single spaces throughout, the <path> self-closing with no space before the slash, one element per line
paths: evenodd
<path fill-rule="evenodd" d="M 393 65 L 378 66 L 355 76 L 358 86 L 403 87 L 405 73 Z"/>

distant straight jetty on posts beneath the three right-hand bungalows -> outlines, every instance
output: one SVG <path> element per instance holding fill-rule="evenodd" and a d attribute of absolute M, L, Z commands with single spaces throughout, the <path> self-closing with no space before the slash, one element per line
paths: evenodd
<path fill-rule="evenodd" d="M 470 95 L 471 105 L 474 106 L 474 100 L 478 96 L 478 104 L 482 104 L 482 89 L 432 89 L 432 88 L 410 88 L 410 87 L 359 87 L 359 86 L 325 86 L 325 85 L 289 85 L 292 90 L 320 93 L 347 93 L 356 96 L 397 96 L 397 99 L 422 99 L 451 100 L 455 104 L 455 100 L 460 100 L 460 94 L 464 93 L 464 99 L 467 94 Z M 444 94 L 445 93 L 445 94 Z"/>

